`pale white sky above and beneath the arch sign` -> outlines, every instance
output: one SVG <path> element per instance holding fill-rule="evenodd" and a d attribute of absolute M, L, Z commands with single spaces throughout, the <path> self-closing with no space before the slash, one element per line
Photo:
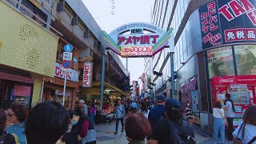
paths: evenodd
<path fill-rule="evenodd" d="M 151 8 L 154 6 L 154 0 L 82 0 L 82 2 L 85 3 L 102 30 L 107 33 L 130 22 L 150 23 Z M 111 14 L 112 12 L 114 14 Z M 126 58 L 121 58 L 121 60 L 126 66 Z M 138 81 L 144 71 L 144 59 L 128 58 L 128 70 L 130 81 Z"/>

